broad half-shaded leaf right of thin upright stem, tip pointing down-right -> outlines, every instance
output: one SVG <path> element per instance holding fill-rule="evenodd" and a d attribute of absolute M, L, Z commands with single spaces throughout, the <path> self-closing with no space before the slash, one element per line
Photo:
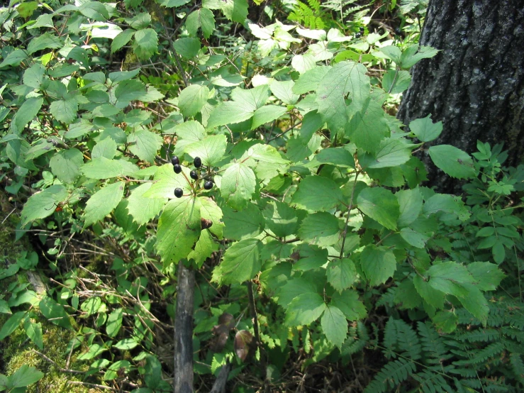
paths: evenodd
<path fill-rule="evenodd" d="M 400 217 L 400 206 L 394 194 L 388 189 L 365 188 L 358 194 L 357 204 L 362 213 L 388 229 L 396 229 L 396 221 Z"/>

